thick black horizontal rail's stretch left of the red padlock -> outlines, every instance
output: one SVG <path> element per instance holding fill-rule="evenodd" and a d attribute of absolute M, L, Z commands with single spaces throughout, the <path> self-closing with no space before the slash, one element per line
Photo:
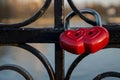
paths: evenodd
<path fill-rule="evenodd" d="M 0 43 L 55 43 L 62 31 L 44 29 L 0 29 Z"/>

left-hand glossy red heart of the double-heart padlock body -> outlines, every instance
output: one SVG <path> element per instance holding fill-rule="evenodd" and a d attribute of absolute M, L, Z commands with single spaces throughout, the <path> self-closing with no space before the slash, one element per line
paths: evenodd
<path fill-rule="evenodd" d="M 60 36 L 60 45 L 63 49 L 74 54 L 85 52 L 83 38 L 86 35 L 86 29 L 67 30 Z"/>

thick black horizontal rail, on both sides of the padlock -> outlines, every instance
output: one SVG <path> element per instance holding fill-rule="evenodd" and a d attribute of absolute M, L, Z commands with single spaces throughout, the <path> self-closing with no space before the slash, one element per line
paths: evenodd
<path fill-rule="evenodd" d="M 63 26 L 63 24 L 61 25 Z M 110 34 L 110 45 L 120 44 L 120 25 L 104 25 Z M 56 26 L 57 27 L 57 26 Z M 59 27 L 59 26 L 58 26 Z M 53 28 L 0 29 L 0 43 L 57 43 L 63 30 Z M 114 46 L 115 47 L 115 46 Z"/>

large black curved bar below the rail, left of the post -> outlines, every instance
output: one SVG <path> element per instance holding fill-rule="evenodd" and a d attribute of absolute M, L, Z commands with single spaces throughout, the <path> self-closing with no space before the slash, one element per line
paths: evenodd
<path fill-rule="evenodd" d="M 18 44 L 17 47 L 23 48 L 23 49 L 31 52 L 34 56 L 36 56 L 45 66 L 45 68 L 49 74 L 50 80 L 54 80 L 55 76 L 54 76 L 53 68 L 51 67 L 48 59 L 41 52 L 39 52 L 37 49 L 35 49 L 32 46 L 27 45 L 27 44 Z"/>

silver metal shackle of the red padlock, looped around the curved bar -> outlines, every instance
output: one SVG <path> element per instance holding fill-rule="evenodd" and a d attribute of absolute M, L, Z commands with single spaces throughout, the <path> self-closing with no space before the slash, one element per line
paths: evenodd
<path fill-rule="evenodd" d="M 80 9 L 80 13 L 87 13 L 95 16 L 96 19 L 96 26 L 102 26 L 102 20 L 101 16 L 99 13 L 93 9 L 90 8 L 85 8 L 85 9 Z M 70 26 L 70 19 L 73 18 L 75 15 L 77 15 L 74 11 L 72 11 L 70 14 L 68 14 L 65 18 L 65 30 L 69 29 Z M 85 20 L 84 20 L 85 21 Z"/>

